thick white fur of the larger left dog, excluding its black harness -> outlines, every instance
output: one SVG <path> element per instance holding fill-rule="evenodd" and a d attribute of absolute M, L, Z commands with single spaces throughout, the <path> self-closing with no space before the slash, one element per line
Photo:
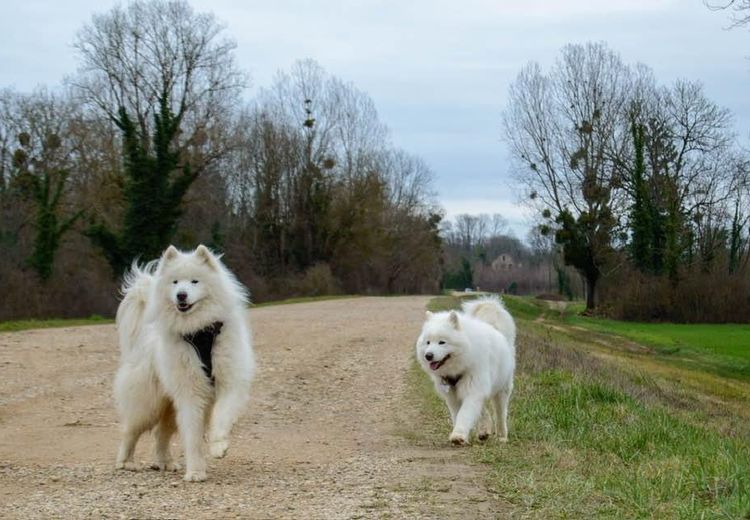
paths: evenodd
<path fill-rule="evenodd" d="M 178 470 L 169 452 L 179 429 L 185 480 L 206 479 L 209 451 L 223 457 L 229 433 L 250 397 L 255 372 L 247 324 L 247 292 L 220 258 L 201 245 L 192 252 L 170 246 L 158 261 L 126 274 L 117 309 L 120 366 L 114 396 L 123 428 L 117 468 L 136 469 L 133 452 L 153 428 L 155 469 Z M 221 322 L 212 349 L 214 383 L 183 335 Z"/>

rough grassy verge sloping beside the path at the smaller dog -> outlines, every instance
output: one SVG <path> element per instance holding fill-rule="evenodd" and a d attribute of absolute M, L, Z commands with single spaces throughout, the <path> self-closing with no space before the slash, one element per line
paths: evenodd
<path fill-rule="evenodd" d="M 710 388 L 693 395 L 692 389 L 662 381 L 658 372 L 634 369 L 627 351 L 601 355 L 601 348 L 590 344 L 598 332 L 570 323 L 570 316 L 550 311 L 544 302 L 506 300 L 519 328 L 510 442 L 469 450 L 489 465 L 489 485 L 513 514 L 750 518 L 748 431 L 714 417 L 715 407 L 703 406 L 701 399 L 714 399 Z M 430 307 L 458 303 L 441 297 Z M 560 327 L 566 320 L 578 328 Z M 609 323 L 596 326 L 616 333 Z M 687 337 L 700 350 L 700 334 L 687 331 Z M 416 363 L 411 384 L 426 403 L 430 425 L 420 442 L 446 443 L 447 411 Z"/>

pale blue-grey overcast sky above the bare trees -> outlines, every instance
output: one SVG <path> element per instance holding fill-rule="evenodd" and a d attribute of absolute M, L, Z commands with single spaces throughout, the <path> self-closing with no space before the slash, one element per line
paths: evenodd
<path fill-rule="evenodd" d="M 59 85 L 71 43 L 109 0 L 2 0 L 0 87 Z M 567 43 L 606 41 L 664 83 L 700 80 L 750 143 L 750 33 L 701 0 L 195 0 L 237 41 L 253 87 L 313 58 L 375 101 L 398 146 L 435 172 L 449 215 L 501 213 L 527 228 L 500 141 L 508 86 L 522 65 L 551 64 Z M 253 89 L 248 92 L 251 96 Z"/>

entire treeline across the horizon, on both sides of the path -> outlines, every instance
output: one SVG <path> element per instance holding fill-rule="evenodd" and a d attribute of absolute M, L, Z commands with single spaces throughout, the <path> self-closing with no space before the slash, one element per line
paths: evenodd
<path fill-rule="evenodd" d="M 256 302 L 476 288 L 635 320 L 750 319 L 750 161 L 730 112 L 605 44 L 529 64 L 502 114 L 537 209 L 443 220 L 432 172 L 311 60 L 247 101 L 235 44 L 184 1 L 78 32 L 54 91 L 0 91 L 0 319 L 111 315 L 170 243 L 224 253 Z"/>

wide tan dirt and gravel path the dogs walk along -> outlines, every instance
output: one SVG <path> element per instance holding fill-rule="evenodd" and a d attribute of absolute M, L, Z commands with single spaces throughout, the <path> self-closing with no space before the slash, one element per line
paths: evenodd
<path fill-rule="evenodd" d="M 0 334 L 0 518 L 497 517 L 465 450 L 408 435 L 419 424 L 405 374 L 426 302 L 251 311 L 254 397 L 205 483 L 112 469 L 113 326 Z M 136 460 L 150 450 L 144 438 Z"/>

